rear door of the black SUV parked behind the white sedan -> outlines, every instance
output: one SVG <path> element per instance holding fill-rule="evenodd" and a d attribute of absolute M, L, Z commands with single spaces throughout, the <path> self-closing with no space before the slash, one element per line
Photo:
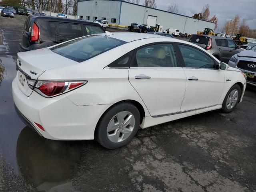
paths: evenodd
<path fill-rule="evenodd" d="M 82 37 L 83 29 L 81 24 L 58 23 L 56 31 L 56 43 L 62 43 L 74 38 Z"/>

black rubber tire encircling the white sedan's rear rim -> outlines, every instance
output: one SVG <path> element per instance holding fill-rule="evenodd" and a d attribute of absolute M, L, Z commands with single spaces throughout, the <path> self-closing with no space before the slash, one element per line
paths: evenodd
<path fill-rule="evenodd" d="M 124 141 L 112 142 L 109 140 L 109 138 L 107 136 L 108 124 L 109 124 L 110 120 L 116 114 L 118 114 L 119 112 L 123 112 L 123 111 L 128 111 L 134 116 L 134 119 L 135 119 L 134 129 L 132 130 L 132 133 L 130 134 L 130 136 L 128 136 L 128 138 L 126 138 Z M 100 119 L 100 121 L 98 122 L 98 125 L 96 127 L 94 136 L 95 136 L 95 139 L 104 148 L 116 149 L 116 148 L 125 146 L 132 140 L 132 138 L 134 138 L 134 136 L 136 135 L 136 133 L 139 129 L 139 125 L 140 125 L 140 112 L 139 112 L 138 108 L 136 108 L 136 106 L 134 106 L 133 104 L 124 102 L 124 103 L 120 103 L 116 106 L 113 106 L 112 108 L 108 109 L 102 115 L 102 118 Z"/>

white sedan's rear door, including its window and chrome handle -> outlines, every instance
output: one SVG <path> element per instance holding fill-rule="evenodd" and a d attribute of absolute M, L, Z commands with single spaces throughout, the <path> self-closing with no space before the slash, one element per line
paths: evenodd
<path fill-rule="evenodd" d="M 180 112 L 186 76 L 172 44 L 151 44 L 135 50 L 129 81 L 151 116 Z"/>

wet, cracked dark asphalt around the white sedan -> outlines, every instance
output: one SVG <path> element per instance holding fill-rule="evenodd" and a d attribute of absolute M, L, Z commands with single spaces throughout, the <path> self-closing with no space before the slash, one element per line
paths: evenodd
<path fill-rule="evenodd" d="M 255 90 L 246 89 L 230 114 L 141 129 L 116 150 L 47 140 L 27 128 L 11 93 L 25 17 L 17 18 L 0 17 L 0 191 L 256 192 Z"/>

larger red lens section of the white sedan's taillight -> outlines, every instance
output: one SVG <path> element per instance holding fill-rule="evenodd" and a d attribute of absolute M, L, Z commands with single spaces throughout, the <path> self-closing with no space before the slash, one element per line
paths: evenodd
<path fill-rule="evenodd" d="M 59 94 L 65 86 L 65 82 L 49 82 L 42 84 L 38 89 L 47 96 Z"/>

